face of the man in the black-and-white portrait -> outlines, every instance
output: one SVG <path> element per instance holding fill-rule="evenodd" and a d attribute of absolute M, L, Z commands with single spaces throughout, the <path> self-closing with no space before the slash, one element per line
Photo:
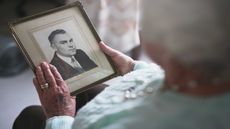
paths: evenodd
<path fill-rule="evenodd" d="M 76 46 L 73 38 L 67 33 L 55 35 L 52 48 L 62 56 L 70 57 L 76 54 Z"/>

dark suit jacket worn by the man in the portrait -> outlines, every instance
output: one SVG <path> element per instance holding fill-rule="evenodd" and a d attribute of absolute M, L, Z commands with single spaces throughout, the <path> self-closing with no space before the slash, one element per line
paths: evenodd
<path fill-rule="evenodd" d="M 74 55 L 74 57 L 82 66 L 84 71 L 88 71 L 92 68 L 97 67 L 97 65 L 86 55 L 86 53 L 80 49 L 76 50 L 76 54 Z M 54 54 L 54 57 L 51 60 L 50 64 L 54 65 L 57 68 L 64 80 L 84 72 L 73 68 L 70 64 L 60 59 L 56 53 Z"/>

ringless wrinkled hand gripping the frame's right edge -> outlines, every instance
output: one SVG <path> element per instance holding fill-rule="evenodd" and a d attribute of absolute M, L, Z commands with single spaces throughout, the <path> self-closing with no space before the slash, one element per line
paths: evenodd
<path fill-rule="evenodd" d="M 115 49 L 112 49 L 111 47 L 105 45 L 103 42 L 100 42 L 99 45 L 101 50 L 112 58 L 115 66 L 118 68 L 122 75 L 133 70 L 135 61 L 132 58 Z"/>

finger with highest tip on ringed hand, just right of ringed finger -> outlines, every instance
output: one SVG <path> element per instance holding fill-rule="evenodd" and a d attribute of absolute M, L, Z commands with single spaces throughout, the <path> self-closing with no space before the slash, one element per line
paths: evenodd
<path fill-rule="evenodd" d="M 56 86 L 56 81 L 53 76 L 53 73 L 50 70 L 49 65 L 46 62 L 42 62 L 42 71 L 44 73 L 44 76 L 46 78 L 46 81 L 48 82 L 50 87 L 55 87 Z"/>

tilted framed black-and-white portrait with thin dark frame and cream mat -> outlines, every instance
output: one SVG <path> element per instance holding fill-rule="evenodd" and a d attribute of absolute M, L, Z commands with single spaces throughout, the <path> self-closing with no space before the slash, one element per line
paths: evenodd
<path fill-rule="evenodd" d="M 71 94 L 117 75 L 111 59 L 100 50 L 101 39 L 80 2 L 19 19 L 9 26 L 32 70 L 43 61 L 53 64 Z"/>

